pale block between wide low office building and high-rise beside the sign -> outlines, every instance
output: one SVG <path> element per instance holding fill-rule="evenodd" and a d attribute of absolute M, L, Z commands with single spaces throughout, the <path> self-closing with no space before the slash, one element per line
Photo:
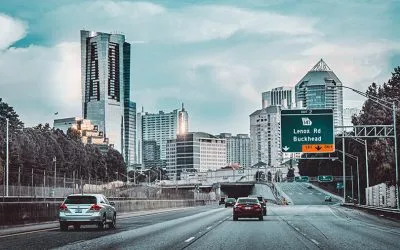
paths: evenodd
<path fill-rule="evenodd" d="M 241 167 L 251 167 L 250 137 L 248 134 L 232 136 L 221 133 L 217 136 L 226 140 L 226 160 L 228 164 L 239 164 Z"/>

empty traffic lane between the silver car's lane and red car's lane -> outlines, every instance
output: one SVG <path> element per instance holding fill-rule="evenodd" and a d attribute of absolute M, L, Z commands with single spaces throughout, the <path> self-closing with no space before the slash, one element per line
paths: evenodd
<path fill-rule="evenodd" d="M 232 208 L 217 208 L 59 249 L 183 249 L 231 217 Z"/>

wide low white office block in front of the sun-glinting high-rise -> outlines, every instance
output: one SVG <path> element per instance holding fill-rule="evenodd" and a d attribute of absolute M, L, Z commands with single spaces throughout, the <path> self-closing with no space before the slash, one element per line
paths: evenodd
<path fill-rule="evenodd" d="M 168 140 L 167 174 L 180 177 L 182 171 L 205 172 L 227 165 L 226 140 L 203 132 L 191 132 Z"/>

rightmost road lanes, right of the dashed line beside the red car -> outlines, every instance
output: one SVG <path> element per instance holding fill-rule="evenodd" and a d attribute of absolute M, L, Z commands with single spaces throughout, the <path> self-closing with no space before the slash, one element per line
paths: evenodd
<path fill-rule="evenodd" d="M 400 224 L 338 206 L 292 206 L 272 211 L 323 249 L 399 249 Z"/>

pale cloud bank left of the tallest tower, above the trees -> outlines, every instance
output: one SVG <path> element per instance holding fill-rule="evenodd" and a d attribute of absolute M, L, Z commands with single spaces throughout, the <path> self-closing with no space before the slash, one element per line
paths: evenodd
<path fill-rule="evenodd" d="M 52 114 L 81 114 L 80 45 L 10 48 L 0 54 L 0 93 L 27 125 L 51 122 Z"/>

